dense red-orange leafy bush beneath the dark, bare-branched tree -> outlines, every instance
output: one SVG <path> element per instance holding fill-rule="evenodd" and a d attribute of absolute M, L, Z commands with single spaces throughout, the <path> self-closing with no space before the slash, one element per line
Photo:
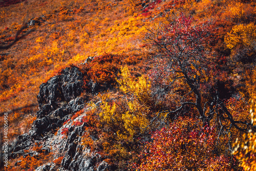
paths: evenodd
<path fill-rule="evenodd" d="M 216 154 L 215 127 L 199 127 L 193 118 L 181 117 L 151 138 L 134 165 L 139 170 L 237 170 L 234 160 Z"/>

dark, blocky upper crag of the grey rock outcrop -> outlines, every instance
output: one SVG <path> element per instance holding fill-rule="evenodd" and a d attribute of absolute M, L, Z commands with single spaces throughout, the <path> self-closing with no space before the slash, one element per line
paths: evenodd
<path fill-rule="evenodd" d="M 57 109 L 61 102 L 69 102 L 79 96 L 83 91 L 82 79 L 82 72 L 73 67 L 66 68 L 60 75 L 42 83 L 37 95 L 39 105 L 37 117 L 44 116 L 50 110 Z"/>

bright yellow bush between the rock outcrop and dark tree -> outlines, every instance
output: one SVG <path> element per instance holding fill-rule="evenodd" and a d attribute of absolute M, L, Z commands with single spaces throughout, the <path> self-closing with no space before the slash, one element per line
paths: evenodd
<path fill-rule="evenodd" d="M 133 79 L 127 67 L 121 68 L 119 89 L 127 95 L 126 100 L 106 102 L 102 96 L 101 121 L 116 131 L 118 139 L 132 140 L 134 136 L 143 133 L 149 123 L 152 103 L 151 84 L 144 75 Z"/>

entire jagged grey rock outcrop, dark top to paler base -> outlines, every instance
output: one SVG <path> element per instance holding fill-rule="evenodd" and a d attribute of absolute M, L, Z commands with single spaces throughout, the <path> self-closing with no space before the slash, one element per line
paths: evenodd
<path fill-rule="evenodd" d="M 72 120 L 69 121 L 72 114 L 84 109 L 84 104 L 88 100 L 87 97 L 79 97 L 82 91 L 84 91 L 83 74 L 76 67 L 66 68 L 60 75 L 42 83 L 37 96 L 39 104 L 37 119 L 33 122 L 29 133 L 18 136 L 18 143 L 10 157 L 34 155 L 34 152 L 24 154 L 24 150 L 30 149 L 39 142 L 45 153 L 52 152 L 54 158 L 63 156 L 63 159 L 60 166 L 51 162 L 36 170 L 103 171 L 109 168 L 108 163 L 104 162 L 97 153 L 81 145 L 81 136 L 86 130 L 84 127 L 87 123 L 77 126 L 72 124 Z M 85 113 L 76 120 L 84 115 Z M 68 134 L 65 136 L 62 135 L 63 129 L 68 129 Z M 54 134 L 56 130 L 58 131 Z"/>

